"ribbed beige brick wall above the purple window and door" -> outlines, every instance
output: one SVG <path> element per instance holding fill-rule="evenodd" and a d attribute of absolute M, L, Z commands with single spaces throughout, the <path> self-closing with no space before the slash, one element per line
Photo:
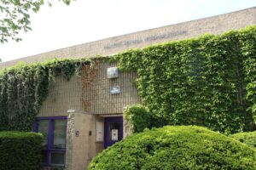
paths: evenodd
<path fill-rule="evenodd" d="M 67 116 L 67 110 L 88 111 L 92 114 L 121 114 L 126 105 L 140 102 L 136 88 L 136 73 L 119 72 L 115 79 L 107 78 L 107 68 L 116 64 L 100 63 L 94 78 L 86 80 L 89 85 L 83 88 L 83 77 L 73 76 L 67 81 L 62 76 L 55 77 L 38 116 Z M 120 94 L 110 94 L 110 87 L 118 85 Z M 86 103 L 86 105 L 84 104 Z"/>

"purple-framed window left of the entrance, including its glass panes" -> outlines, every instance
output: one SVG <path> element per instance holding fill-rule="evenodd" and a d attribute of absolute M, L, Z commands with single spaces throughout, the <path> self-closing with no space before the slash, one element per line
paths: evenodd
<path fill-rule="evenodd" d="M 63 167 L 66 154 L 67 117 L 38 117 L 34 131 L 44 135 L 42 164 Z"/>

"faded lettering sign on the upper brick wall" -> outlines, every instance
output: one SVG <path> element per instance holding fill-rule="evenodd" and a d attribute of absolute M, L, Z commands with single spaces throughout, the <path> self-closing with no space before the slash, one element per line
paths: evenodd
<path fill-rule="evenodd" d="M 169 38 L 177 37 L 177 36 L 180 36 L 180 35 L 183 35 L 186 33 L 187 33 L 187 31 L 172 31 L 172 32 L 164 33 L 164 34 L 148 36 L 148 37 L 145 37 L 144 39 L 134 39 L 134 40 L 121 41 L 121 42 L 114 42 L 114 43 L 105 45 L 104 48 L 112 49 L 112 48 L 120 48 L 123 46 L 129 47 L 130 45 L 139 44 L 139 43 L 143 43 L 143 42 L 154 42 L 154 41 L 157 41 L 160 39 L 169 39 Z"/>

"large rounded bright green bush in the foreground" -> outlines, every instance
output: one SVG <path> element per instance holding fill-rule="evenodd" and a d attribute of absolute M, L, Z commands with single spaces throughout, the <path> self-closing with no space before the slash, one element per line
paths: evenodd
<path fill-rule="evenodd" d="M 256 169 L 251 147 L 195 126 L 136 133 L 103 150 L 89 169 Z"/>

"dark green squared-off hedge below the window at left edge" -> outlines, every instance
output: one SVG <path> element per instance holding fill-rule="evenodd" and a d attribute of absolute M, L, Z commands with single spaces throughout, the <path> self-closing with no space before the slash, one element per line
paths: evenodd
<path fill-rule="evenodd" d="M 0 169 L 38 170 L 42 140 L 40 133 L 0 132 Z"/>

